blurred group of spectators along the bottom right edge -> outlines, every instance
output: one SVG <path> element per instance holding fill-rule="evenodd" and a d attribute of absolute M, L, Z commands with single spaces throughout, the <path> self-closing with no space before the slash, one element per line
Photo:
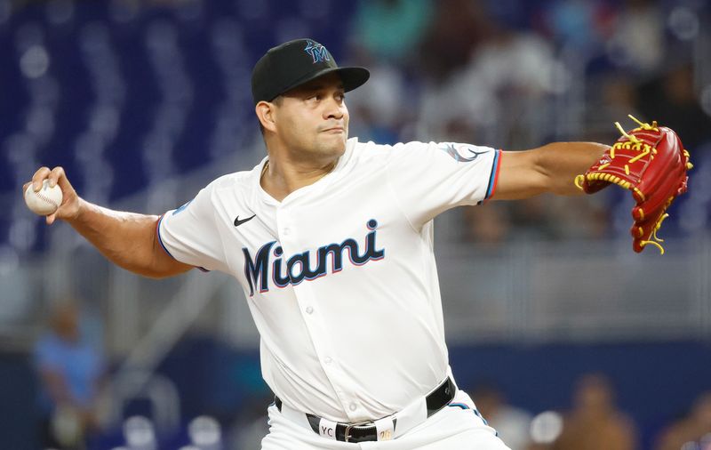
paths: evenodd
<path fill-rule="evenodd" d="M 579 376 L 571 406 L 535 416 L 512 406 L 501 390 L 483 384 L 472 391 L 476 406 L 512 450 L 707 450 L 711 448 L 711 391 L 643 443 L 638 424 L 616 404 L 607 376 Z"/>

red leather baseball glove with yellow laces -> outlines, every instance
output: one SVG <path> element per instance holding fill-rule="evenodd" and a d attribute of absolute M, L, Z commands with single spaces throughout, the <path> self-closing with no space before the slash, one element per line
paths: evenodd
<path fill-rule="evenodd" d="M 657 230 L 668 217 L 667 208 L 675 197 L 686 192 L 686 171 L 693 165 L 673 130 L 657 122 L 649 125 L 630 118 L 639 127 L 625 133 L 616 122 L 622 137 L 586 173 L 578 175 L 575 184 L 587 194 L 612 183 L 631 190 L 636 202 L 632 209 L 635 223 L 630 229 L 632 248 L 639 253 L 652 244 L 664 254 Z"/>

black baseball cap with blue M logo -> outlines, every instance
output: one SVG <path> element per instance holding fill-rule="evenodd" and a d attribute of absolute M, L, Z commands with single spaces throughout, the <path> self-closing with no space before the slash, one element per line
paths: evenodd
<path fill-rule="evenodd" d="M 271 101 L 284 92 L 319 76 L 337 73 L 348 91 L 368 81 L 367 68 L 340 68 L 331 52 L 313 39 L 294 39 L 277 45 L 257 61 L 252 70 L 252 98 Z"/>

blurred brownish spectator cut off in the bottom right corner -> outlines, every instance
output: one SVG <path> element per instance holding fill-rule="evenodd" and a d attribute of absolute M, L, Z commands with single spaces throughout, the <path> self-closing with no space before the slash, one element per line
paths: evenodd
<path fill-rule="evenodd" d="M 711 391 L 704 392 L 694 401 L 689 414 L 670 424 L 662 431 L 655 450 L 679 450 L 683 448 L 699 448 L 699 446 L 685 446 L 687 443 L 697 443 L 707 438 L 707 445 L 711 445 Z M 708 446 L 700 447 L 704 450 Z"/>

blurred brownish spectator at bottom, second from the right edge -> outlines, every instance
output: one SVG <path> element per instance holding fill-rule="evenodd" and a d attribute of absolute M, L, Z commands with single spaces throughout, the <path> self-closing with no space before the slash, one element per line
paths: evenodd
<path fill-rule="evenodd" d="M 586 374 L 573 393 L 573 409 L 563 419 L 554 450 L 634 450 L 635 426 L 614 403 L 610 382 L 602 374 Z"/>

